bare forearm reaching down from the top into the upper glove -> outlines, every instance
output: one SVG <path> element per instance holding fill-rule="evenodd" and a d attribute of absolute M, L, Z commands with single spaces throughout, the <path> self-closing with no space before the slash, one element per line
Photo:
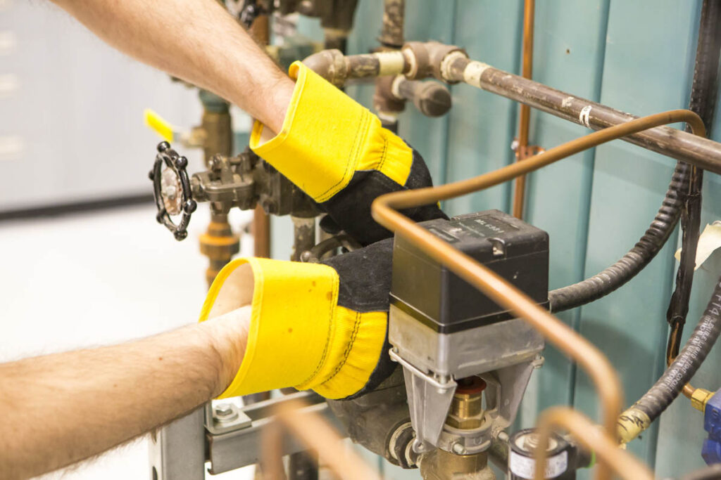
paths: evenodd
<path fill-rule="evenodd" d="M 293 81 L 217 0 L 53 0 L 118 50 L 280 132 Z"/>

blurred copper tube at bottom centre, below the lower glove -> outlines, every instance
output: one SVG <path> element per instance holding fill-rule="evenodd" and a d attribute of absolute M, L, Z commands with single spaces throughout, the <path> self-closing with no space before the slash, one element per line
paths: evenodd
<path fill-rule="evenodd" d="M 345 448 L 340 435 L 335 433 L 335 430 L 327 422 L 314 413 L 301 413 L 302 407 L 304 404 L 301 402 L 287 402 L 279 404 L 275 412 L 278 420 L 298 440 L 322 456 L 324 465 L 328 466 L 338 478 L 343 480 L 381 480 L 379 474 L 353 450 Z M 279 435 L 277 431 L 269 430 L 264 433 L 264 436 L 267 436 L 269 440 L 264 441 L 263 445 L 269 448 L 263 449 L 262 465 L 269 465 L 273 468 L 272 466 L 277 464 L 275 459 L 280 458 L 281 455 Z"/>

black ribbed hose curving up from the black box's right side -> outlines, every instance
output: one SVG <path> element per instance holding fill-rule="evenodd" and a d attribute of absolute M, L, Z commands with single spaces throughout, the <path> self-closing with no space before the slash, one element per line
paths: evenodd
<path fill-rule="evenodd" d="M 676 163 L 671 184 L 658 213 L 641 239 L 619 261 L 596 275 L 569 286 L 548 292 L 552 312 L 580 307 L 623 286 L 634 278 L 656 256 L 676 228 L 681 209 L 684 207 L 685 192 L 689 190 L 691 167 L 687 163 Z"/>

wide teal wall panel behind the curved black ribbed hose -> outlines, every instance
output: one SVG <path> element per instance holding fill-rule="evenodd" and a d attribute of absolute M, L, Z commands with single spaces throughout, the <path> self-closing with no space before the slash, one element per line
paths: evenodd
<path fill-rule="evenodd" d="M 696 2 L 611 2 L 601 103 L 643 115 L 685 107 Z M 609 266 L 638 240 L 661 204 L 673 160 L 626 142 L 596 149 L 585 276 Z M 675 235 L 626 286 L 582 308 L 580 332 L 619 369 L 627 402 L 663 368 L 665 309 L 671 294 Z M 596 393 L 578 374 L 575 407 L 598 417 Z M 653 464 L 657 429 L 629 445 Z"/>

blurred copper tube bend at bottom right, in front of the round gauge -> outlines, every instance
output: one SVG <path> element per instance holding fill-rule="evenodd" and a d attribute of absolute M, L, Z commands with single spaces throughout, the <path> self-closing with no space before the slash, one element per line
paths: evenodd
<path fill-rule="evenodd" d="M 548 439 L 555 428 L 568 430 L 585 448 L 608 465 L 618 476 L 629 480 L 653 480 L 653 473 L 641 461 L 619 448 L 608 433 L 599 430 L 588 417 L 570 407 L 551 407 L 541 413 L 538 423 L 539 445 L 536 467 L 546 464 Z M 544 468 L 536 468 L 536 480 L 544 479 Z"/>

